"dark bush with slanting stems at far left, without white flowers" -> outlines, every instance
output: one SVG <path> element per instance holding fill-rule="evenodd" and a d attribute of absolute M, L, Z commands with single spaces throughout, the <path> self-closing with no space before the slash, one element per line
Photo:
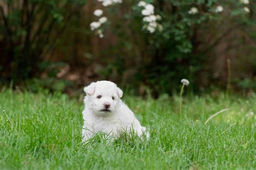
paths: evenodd
<path fill-rule="evenodd" d="M 62 32 L 85 0 L 3 1 L 0 5 L 1 77 L 37 76 L 43 55 L 52 55 Z"/>

